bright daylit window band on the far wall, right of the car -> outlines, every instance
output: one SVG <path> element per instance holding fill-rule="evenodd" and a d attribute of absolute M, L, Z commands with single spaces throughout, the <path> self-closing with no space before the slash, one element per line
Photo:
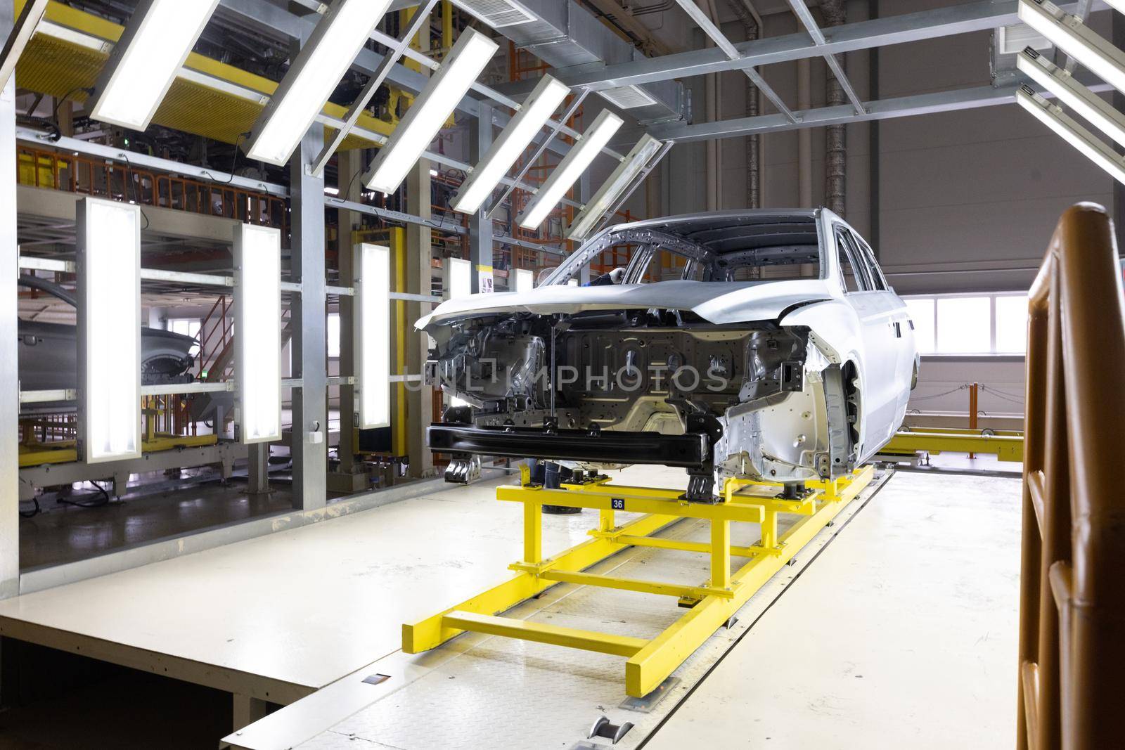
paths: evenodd
<path fill-rule="evenodd" d="M 1024 354 L 1027 295 L 904 297 L 920 354 Z"/>

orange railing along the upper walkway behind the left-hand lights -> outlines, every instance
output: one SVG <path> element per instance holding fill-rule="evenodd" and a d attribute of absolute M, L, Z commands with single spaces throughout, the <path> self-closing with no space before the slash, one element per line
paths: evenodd
<path fill-rule="evenodd" d="M 19 145 L 16 154 L 20 184 L 288 229 L 286 200 L 269 193 L 32 146 Z"/>

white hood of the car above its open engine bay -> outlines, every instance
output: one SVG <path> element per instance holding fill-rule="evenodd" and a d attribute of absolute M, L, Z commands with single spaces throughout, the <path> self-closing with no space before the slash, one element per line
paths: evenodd
<path fill-rule="evenodd" d="M 662 309 L 691 310 L 716 325 L 749 320 L 774 320 L 794 305 L 830 299 L 820 279 L 794 281 L 658 281 L 604 287 L 540 287 L 523 292 L 470 295 L 450 299 L 415 325 L 425 329 L 447 320 L 503 313 L 536 315 L 592 310 Z"/>

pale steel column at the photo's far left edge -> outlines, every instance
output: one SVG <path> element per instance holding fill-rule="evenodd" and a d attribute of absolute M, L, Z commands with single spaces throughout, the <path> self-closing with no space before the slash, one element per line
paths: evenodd
<path fill-rule="evenodd" d="M 0 3 L 0 37 L 12 29 L 12 3 Z M 16 275 L 16 81 L 0 91 L 0 598 L 19 594 L 19 370 Z"/>

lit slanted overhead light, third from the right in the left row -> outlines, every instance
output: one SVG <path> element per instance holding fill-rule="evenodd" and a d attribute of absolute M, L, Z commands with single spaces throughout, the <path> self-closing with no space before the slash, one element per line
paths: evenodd
<path fill-rule="evenodd" d="M 454 211 L 476 214 L 480 210 L 480 206 L 568 93 L 570 87 L 551 75 L 544 75 L 539 80 L 520 111 L 493 142 L 488 153 L 472 168 L 468 179 L 457 191 L 453 197 Z"/>

